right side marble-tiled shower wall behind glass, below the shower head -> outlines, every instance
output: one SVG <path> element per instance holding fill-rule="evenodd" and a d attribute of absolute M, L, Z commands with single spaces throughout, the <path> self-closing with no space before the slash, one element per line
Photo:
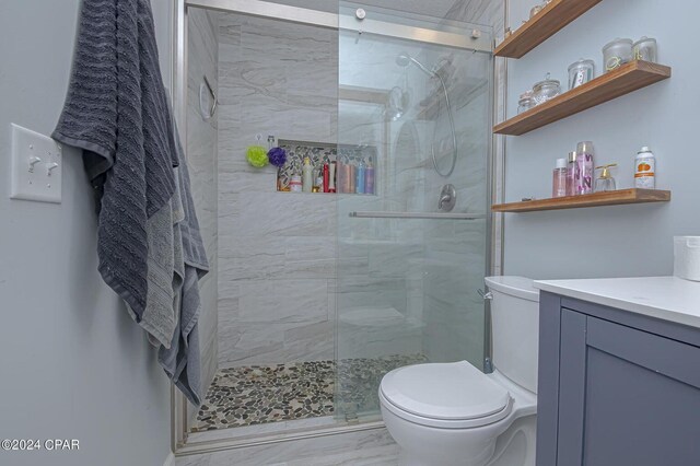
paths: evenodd
<path fill-rule="evenodd" d="M 457 1 L 446 18 L 492 26 L 498 34 L 503 31 L 503 2 Z M 486 83 L 491 73 L 490 61 L 481 54 L 465 54 L 455 55 L 453 65 L 458 70 L 456 75 L 474 85 L 468 98 L 460 102 L 459 97 L 453 97 L 457 101 L 457 165 L 448 179 L 434 172 L 427 175 L 425 208 L 434 209 L 442 185 L 453 183 L 457 187 L 456 211 L 486 213 L 490 203 L 487 154 L 492 103 Z M 498 62 L 494 83 L 497 95 L 503 92 L 503 82 L 504 68 Z M 502 108 L 495 112 L 502 112 Z M 443 124 L 448 123 L 445 120 Z M 495 145 L 493 150 L 501 148 Z M 498 152 L 494 152 L 498 160 L 497 155 Z M 423 349 L 431 360 L 467 359 L 477 366 L 482 364 L 483 300 L 477 289 L 483 287 L 485 255 L 488 254 L 486 229 L 483 220 L 442 222 L 428 226 L 425 234 L 430 240 L 425 242 L 424 252 Z M 499 231 L 498 228 L 495 230 Z M 495 240 L 498 242 L 498 237 Z M 500 264 L 497 266 L 493 271 L 500 273 Z"/>

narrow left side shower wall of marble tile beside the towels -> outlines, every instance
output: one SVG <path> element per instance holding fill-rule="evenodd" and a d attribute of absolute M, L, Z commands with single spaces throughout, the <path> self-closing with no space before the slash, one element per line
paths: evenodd
<path fill-rule="evenodd" d="M 203 75 L 217 89 L 218 45 L 217 15 L 191 9 L 188 14 L 188 75 L 187 75 L 187 156 L 192 178 L 192 198 L 207 248 L 210 272 L 201 280 L 201 315 L 199 318 L 202 393 L 211 383 L 218 364 L 217 354 L 217 133 L 218 115 L 203 119 L 199 113 L 199 86 Z M 196 410 L 190 409 L 190 416 Z"/>

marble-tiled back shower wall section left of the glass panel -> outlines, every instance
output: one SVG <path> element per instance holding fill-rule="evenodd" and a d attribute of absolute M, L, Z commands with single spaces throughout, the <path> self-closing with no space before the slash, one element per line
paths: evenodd
<path fill-rule="evenodd" d="M 219 365 L 334 359 L 336 202 L 276 193 L 245 148 L 336 142 L 337 32 L 219 20 Z"/>

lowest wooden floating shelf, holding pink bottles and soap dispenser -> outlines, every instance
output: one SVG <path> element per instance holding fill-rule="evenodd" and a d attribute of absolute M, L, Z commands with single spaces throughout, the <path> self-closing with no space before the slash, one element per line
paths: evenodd
<path fill-rule="evenodd" d="M 491 210 L 494 212 L 535 212 L 540 210 L 578 209 L 581 207 L 618 206 L 622 203 L 668 202 L 669 200 L 670 191 L 633 188 L 552 199 L 497 203 L 491 206 Z"/>

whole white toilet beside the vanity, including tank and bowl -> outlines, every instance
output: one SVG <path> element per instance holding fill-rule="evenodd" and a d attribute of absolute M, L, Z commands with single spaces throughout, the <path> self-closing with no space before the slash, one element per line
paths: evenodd
<path fill-rule="evenodd" d="M 523 277 L 486 283 L 493 373 L 459 361 L 408 365 L 382 380 L 382 417 L 401 465 L 535 465 L 539 292 Z"/>

